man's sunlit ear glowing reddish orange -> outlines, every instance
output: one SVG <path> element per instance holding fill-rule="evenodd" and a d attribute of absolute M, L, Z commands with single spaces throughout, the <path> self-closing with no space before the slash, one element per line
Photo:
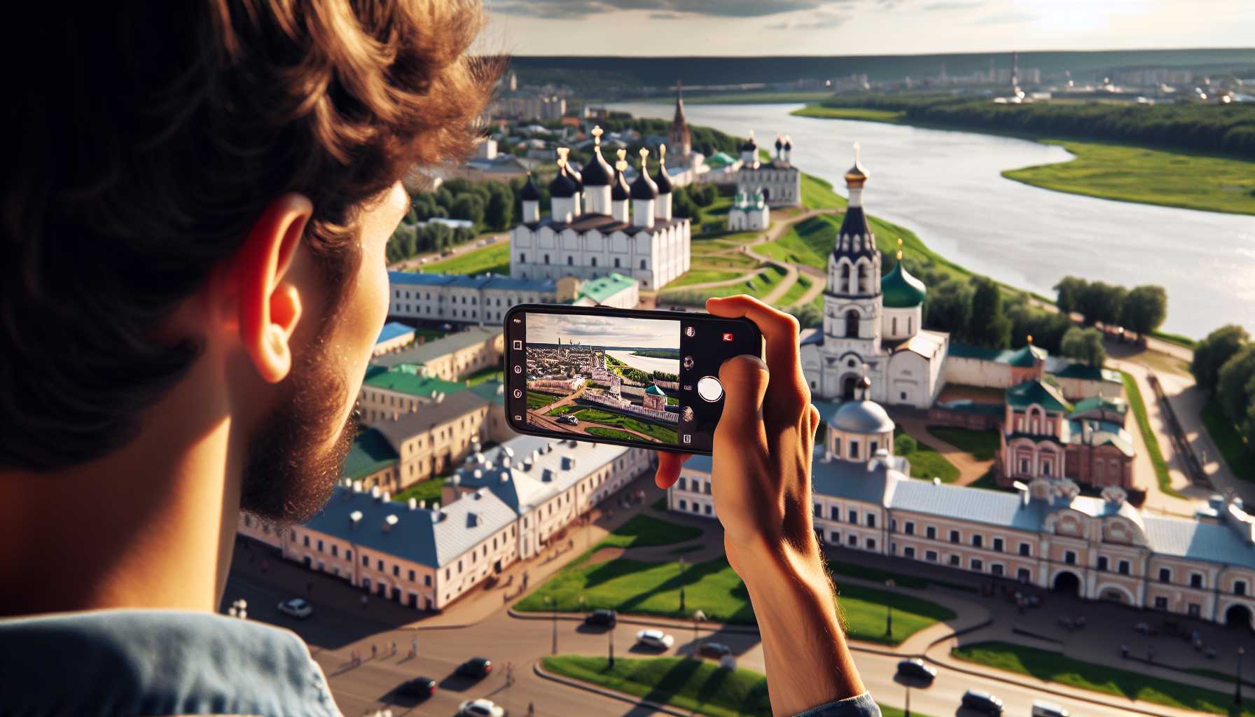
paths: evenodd
<path fill-rule="evenodd" d="M 248 231 L 235 267 L 240 342 L 261 378 L 279 383 L 292 368 L 290 339 L 301 318 L 297 288 L 285 281 L 314 205 L 287 192 Z"/>

